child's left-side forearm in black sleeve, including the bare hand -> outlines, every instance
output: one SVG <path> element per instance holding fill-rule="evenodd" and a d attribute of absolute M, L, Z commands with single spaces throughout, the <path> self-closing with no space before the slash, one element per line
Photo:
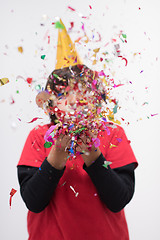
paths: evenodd
<path fill-rule="evenodd" d="M 41 167 L 18 166 L 20 191 L 29 210 L 41 212 L 48 204 L 65 170 L 70 137 L 61 134 Z"/>

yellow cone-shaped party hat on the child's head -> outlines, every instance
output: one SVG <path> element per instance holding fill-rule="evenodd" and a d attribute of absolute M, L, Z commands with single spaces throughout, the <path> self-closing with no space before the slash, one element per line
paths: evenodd
<path fill-rule="evenodd" d="M 60 25 L 61 27 L 58 31 L 57 62 L 55 69 L 83 64 L 61 19 Z"/>

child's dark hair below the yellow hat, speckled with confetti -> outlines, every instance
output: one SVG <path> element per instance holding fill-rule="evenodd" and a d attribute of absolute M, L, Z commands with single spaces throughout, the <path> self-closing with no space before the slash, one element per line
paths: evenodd
<path fill-rule="evenodd" d="M 54 93 L 55 95 L 58 95 L 63 92 L 68 85 L 73 84 L 73 89 L 76 89 L 78 82 L 81 82 L 82 86 L 86 86 L 86 84 L 91 84 L 93 79 L 97 77 L 97 72 L 92 71 L 87 66 L 81 64 L 56 69 L 49 75 L 45 90 L 50 94 Z M 53 101 L 49 100 L 48 105 L 53 107 Z M 55 123 L 55 120 L 57 120 L 55 114 L 50 113 L 50 120 Z"/>

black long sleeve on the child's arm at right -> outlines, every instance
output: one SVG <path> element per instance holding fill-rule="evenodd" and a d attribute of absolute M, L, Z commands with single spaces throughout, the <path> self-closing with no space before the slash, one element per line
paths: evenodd
<path fill-rule="evenodd" d="M 111 169 L 103 166 L 106 159 L 101 154 L 89 167 L 84 164 L 84 170 L 94 183 L 101 200 L 113 212 L 119 212 L 132 199 L 135 187 L 135 163 Z"/>

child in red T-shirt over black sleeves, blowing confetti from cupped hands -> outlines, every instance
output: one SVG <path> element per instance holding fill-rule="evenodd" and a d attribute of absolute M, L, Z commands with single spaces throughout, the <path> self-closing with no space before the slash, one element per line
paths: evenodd
<path fill-rule="evenodd" d="M 68 37 L 65 28 L 61 33 Z M 91 85 L 75 86 L 84 79 L 92 83 L 93 75 L 76 58 L 68 66 L 56 67 L 47 81 L 47 92 L 37 96 L 39 106 L 47 102 L 51 123 L 30 132 L 18 163 L 20 191 L 29 209 L 29 240 L 129 239 L 124 207 L 133 197 L 137 161 L 121 127 L 106 123 L 105 131 L 102 125 L 95 127 L 98 120 L 85 113 L 94 112 L 91 101 L 82 101 L 84 92 L 90 96 Z M 97 106 L 102 99 L 103 94 Z M 76 130 L 69 131 L 65 123 L 72 122 L 80 131 L 81 120 L 75 117 L 79 113 L 89 124 L 81 123 L 87 130 L 77 137 L 73 136 Z M 53 146 L 45 148 L 44 137 L 54 125 Z M 100 144 L 91 144 L 94 139 Z"/>

